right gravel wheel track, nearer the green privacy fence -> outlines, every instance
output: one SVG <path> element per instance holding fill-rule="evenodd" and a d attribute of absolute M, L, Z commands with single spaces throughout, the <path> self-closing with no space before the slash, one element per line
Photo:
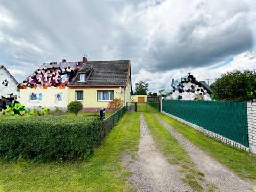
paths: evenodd
<path fill-rule="evenodd" d="M 176 132 L 162 118 L 157 115 L 155 116 L 185 148 L 191 159 L 195 162 L 197 169 L 205 174 L 205 180 L 201 183 L 205 189 L 207 188 L 207 183 L 213 183 L 217 186 L 217 191 L 251 191 L 250 189 L 256 189 L 252 182 L 240 179 L 227 167 L 205 154 L 201 149 L 183 137 L 183 135 Z"/>

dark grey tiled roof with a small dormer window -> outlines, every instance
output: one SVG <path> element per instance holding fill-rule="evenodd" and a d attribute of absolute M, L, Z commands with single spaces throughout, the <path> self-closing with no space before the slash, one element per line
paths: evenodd
<path fill-rule="evenodd" d="M 86 81 L 79 82 L 77 74 L 69 86 L 126 86 L 129 68 L 130 60 L 87 61 L 78 71 L 78 74 L 90 71 Z"/>

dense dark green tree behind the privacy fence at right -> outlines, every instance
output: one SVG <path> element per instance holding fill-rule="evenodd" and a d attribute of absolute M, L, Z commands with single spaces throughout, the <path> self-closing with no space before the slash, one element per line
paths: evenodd
<path fill-rule="evenodd" d="M 233 70 L 223 73 L 210 87 L 218 101 L 255 102 L 256 71 Z"/>

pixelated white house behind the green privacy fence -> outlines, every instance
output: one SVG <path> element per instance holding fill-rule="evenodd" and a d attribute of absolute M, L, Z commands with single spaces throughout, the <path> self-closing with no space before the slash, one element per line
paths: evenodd
<path fill-rule="evenodd" d="M 172 79 L 171 85 L 160 93 L 166 96 L 165 99 L 210 101 L 212 90 L 205 81 L 197 81 L 188 73 L 180 79 Z"/>

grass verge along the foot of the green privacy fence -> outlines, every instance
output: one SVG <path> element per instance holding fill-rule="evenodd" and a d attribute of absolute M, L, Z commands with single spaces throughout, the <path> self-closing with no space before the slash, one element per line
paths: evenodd
<path fill-rule="evenodd" d="M 256 156 L 252 156 L 242 149 L 226 145 L 165 114 L 157 113 L 157 115 L 163 118 L 177 132 L 233 170 L 237 175 L 256 183 Z"/>

